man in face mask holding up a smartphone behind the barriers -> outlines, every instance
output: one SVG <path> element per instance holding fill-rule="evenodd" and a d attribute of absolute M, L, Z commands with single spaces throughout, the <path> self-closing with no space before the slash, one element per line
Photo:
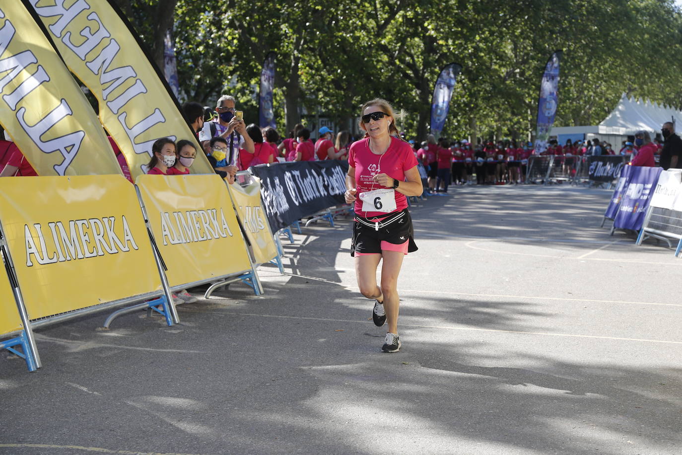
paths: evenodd
<path fill-rule="evenodd" d="M 254 153 L 254 142 L 246 134 L 246 123 L 242 118 L 243 113 L 235 109 L 234 97 L 223 95 L 218 98 L 216 112 L 218 118 L 204 124 L 204 128 L 199 132 L 199 141 L 203 143 L 203 141 L 210 141 L 211 138 L 218 136 L 225 139 L 228 148 L 225 156 L 222 157 L 222 153 L 221 156 L 213 155 L 212 157 L 216 158 L 216 164 L 213 164 L 211 156 L 209 156 L 209 161 L 216 169 L 216 173 L 227 173 L 229 183 L 233 183 L 238 171 L 239 149 L 246 149 L 249 153 Z M 220 153 L 220 151 L 216 153 Z"/>

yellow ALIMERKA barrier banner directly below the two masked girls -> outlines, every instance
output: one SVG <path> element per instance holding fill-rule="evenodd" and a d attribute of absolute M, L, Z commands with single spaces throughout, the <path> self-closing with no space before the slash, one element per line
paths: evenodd
<path fill-rule="evenodd" d="M 250 271 L 237 216 L 218 175 L 140 175 L 136 185 L 170 286 Z"/>

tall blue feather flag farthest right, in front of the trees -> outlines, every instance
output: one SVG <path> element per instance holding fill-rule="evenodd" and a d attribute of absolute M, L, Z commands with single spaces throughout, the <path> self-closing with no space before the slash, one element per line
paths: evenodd
<path fill-rule="evenodd" d="M 537 102 L 537 133 L 535 134 L 535 149 L 533 149 L 536 155 L 547 149 L 554 117 L 557 115 L 560 59 L 561 50 L 557 50 L 547 61 L 545 72 L 542 74 L 540 96 Z"/>

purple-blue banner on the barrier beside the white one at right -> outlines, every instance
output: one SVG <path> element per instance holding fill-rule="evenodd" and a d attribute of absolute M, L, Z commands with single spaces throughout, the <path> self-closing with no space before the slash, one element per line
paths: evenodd
<path fill-rule="evenodd" d="M 639 231 L 662 168 L 645 166 L 626 166 L 626 168 L 632 168 L 630 179 L 625 186 L 625 194 L 613 220 L 613 226 L 616 229 Z"/>

